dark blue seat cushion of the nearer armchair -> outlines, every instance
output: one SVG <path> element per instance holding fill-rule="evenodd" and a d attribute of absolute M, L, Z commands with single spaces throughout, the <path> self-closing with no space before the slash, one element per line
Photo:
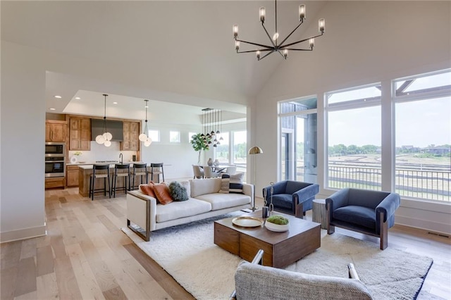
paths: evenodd
<path fill-rule="evenodd" d="M 376 211 L 364 206 L 343 206 L 333 211 L 333 218 L 371 229 L 376 229 Z"/>

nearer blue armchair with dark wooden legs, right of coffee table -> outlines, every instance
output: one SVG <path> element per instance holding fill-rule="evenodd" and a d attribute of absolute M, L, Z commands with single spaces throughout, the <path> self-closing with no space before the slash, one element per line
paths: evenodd
<path fill-rule="evenodd" d="M 381 249 L 388 246 L 388 229 L 395 225 L 395 211 L 400 195 L 366 189 L 341 189 L 326 199 L 327 233 L 335 226 L 381 239 Z"/>

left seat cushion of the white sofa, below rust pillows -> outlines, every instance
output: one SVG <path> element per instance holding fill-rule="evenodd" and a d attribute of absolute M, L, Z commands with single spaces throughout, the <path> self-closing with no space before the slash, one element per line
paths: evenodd
<path fill-rule="evenodd" d="M 211 211 L 211 204 L 197 199 L 188 199 L 187 201 L 174 201 L 168 205 L 156 205 L 156 222 L 161 223 L 168 220 L 199 215 Z"/>

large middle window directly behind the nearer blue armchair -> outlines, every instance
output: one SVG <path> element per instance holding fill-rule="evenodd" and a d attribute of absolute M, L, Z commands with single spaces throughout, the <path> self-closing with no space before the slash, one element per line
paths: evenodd
<path fill-rule="evenodd" d="M 326 187 L 381 190 L 381 85 L 325 94 Z"/>

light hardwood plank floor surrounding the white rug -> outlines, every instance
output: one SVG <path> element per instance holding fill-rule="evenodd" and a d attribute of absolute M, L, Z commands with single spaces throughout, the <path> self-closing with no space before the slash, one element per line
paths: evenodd
<path fill-rule="evenodd" d="M 54 189 L 45 208 L 47 236 L 0 246 L 1 299 L 193 299 L 123 234 L 124 196 L 91 201 Z M 451 299 L 450 239 L 396 225 L 389 247 L 434 259 L 418 299 Z"/>

